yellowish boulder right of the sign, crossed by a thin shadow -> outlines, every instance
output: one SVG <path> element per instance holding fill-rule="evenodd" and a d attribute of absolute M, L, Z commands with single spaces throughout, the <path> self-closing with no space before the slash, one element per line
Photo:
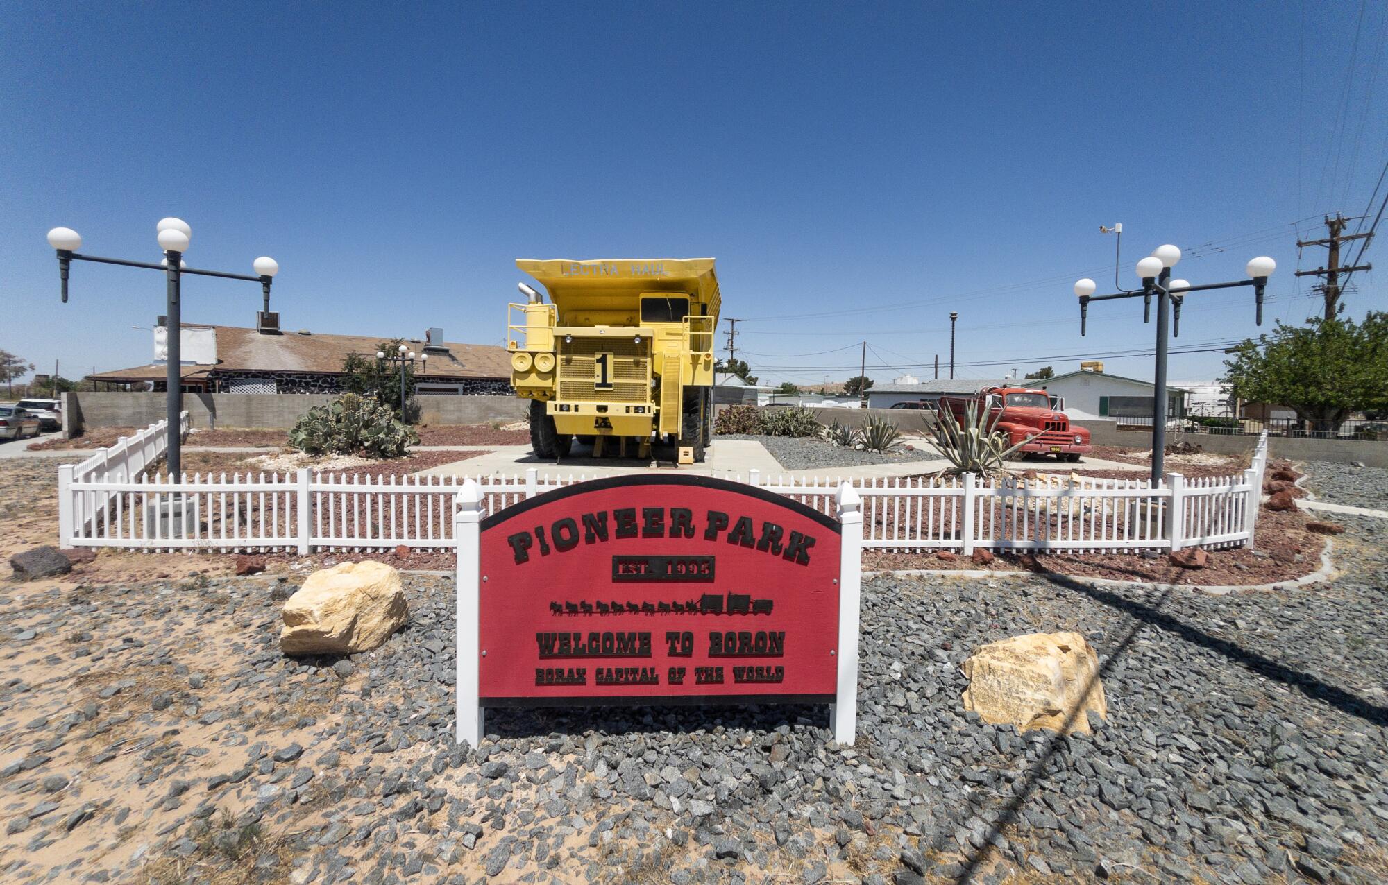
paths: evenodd
<path fill-rule="evenodd" d="M 1022 731 L 1090 732 L 1092 710 L 1108 719 L 1099 662 L 1078 633 L 1031 633 L 990 642 L 963 662 L 963 709 Z"/>

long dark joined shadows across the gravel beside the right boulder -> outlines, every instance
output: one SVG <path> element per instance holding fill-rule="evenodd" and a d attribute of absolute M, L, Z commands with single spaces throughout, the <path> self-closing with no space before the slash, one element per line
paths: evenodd
<path fill-rule="evenodd" d="M 1141 633 L 1145 627 L 1156 627 L 1158 630 L 1165 630 L 1166 633 L 1174 634 L 1176 637 L 1187 642 L 1191 642 L 1192 645 L 1199 645 L 1201 648 L 1208 648 L 1210 651 L 1219 652 L 1233 663 L 1246 667 L 1248 670 L 1259 676 L 1264 676 L 1267 678 L 1277 680 L 1284 685 L 1294 687 L 1313 701 L 1328 703 L 1344 713 L 1348 713 L 1357 719 L 1363 719 L 1364 721 L 1373 723 L 1376 725 L 1388 725 L 1388 707 L 1381 707 L 1378 705 L 1370 703 L 1352 692 L 1348 692 L 1342 688 L 1337 688 L 1335 685 L 1327 685 L 1326 682 L 1320 681 L 1319 678 L 1316 678 L 1309 673 L 1303 673 L 1301 670 L 1294 670 L 1291 667 L 1280 664 L 1276 660 L 1271 660 L 1270 658 L 1266 658 L 1263 655 L 1259 655 L 1258 652 L 1242 648 L 1237 642 L 1213 637 L 1205 633 L 1203 630 L 1199 630 L 1198 627 L 1192 627 L 1191 624 L 1187 624 L 1185 621 L 1162 612 L 1160 610 L 1162 606 L 1170 596 L 1171 592 L 1170 590 L 1163 591 L 1160 598 L 1158 598 L 1155 603 L 1145 603 L 1145 602 L 1137 602 L 1134 599 L 1126 599 L 1115 592 L 1109 592 L 1098 587 L 1091 587 L 1088 584 L 1084 584 L 1063 574 L 1049 573 L 1045 574 L 1045 578 L 1053 584 L 1065 587 L 1066 590 L 1081 592 L 1094 599 L 1095 602 L 1112 606 L 1133 617 L 1133 628 L 1127 633 L 1126 637 L 1123 637 L 1123 641 L 1117 644 L 1117 646 L 1109 655 L 1108 660 L 1103 662 L 1103 664 L 1095 674 L 1095 678 L 1099 678 L 1101 681 L 1112 669 L 1113 663 L 1127 651 L 1128 645 L 1131 645 L 1133 639 L 1137 637 L 1138 633 Z M 1090 685 L 1085 687 L 1085 694 L 1088 692 L 1088 689 Z M 1070 716 L 1065 721 L 1065 730 L 1069 730 L 1077 713 L 1078 709 L 1070 712 Z M 1037 759 L 1035 764 L 1022 777 L 1013 798 L 1008 802 L 1008 806 L 998 813 L 998 820 L 992 824 L 991 830 L 988 831 L 988 835 L 983 842 L 983 848 L 974 850 L 966 859 L 963 873 L 956 879 L 958 882 L 973 881 L 973 875 L 976 874 L 979 864 L 985 861 L 988 859 L 988 854 L 992 853 L 994 841 L 998 838 L 999 834 L 1002 834 L 1002 831 L 1006 827 L 1016 823 L 1022 811 L 1022 807 L 1027 803 L 1027 799 L 1031 796 L 1033 791 L 1037 787 L 1037 782 L 1041 780 L 1041 775 L 1045 771 L 1047 764 L 1051 762 L 1051 757 L 1055 756 L 1055 753 L 1059 750 L 1060 744 L 1062 739 L 1058 735 L 1049 737 L 1049 741 L 1047 742 L 1045 746 L 1045 752 L 1041 753 L 1041 757 Z"/>

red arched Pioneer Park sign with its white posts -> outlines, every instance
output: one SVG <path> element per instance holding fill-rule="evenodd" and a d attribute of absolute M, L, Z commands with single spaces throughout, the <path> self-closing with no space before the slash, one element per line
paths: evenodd
<path fill-rule="evenodd" d="M 483 516 L 458 495 L 458 741 L 497 706 L 829 703 L 854 742 L 862 515 L 740 483 L 593 480 Z"/>

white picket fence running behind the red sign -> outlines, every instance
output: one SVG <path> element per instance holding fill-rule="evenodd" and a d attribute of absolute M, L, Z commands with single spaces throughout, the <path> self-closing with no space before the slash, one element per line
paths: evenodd
<path fill-rule="evenodd" d="M 167 445 L 162 422 L 58 474 L 61 545 L 266 552 L 450 548 L 457 494 L 469 477 L 291 473 L 149 477 Z M 1253 542 L 1267 465 L 1266 434 L 1237 476 L 1151 480 L 795 479 L 722 474 L 833 515 L 838 486 L 862 495 L 863 545 L 1130 552 Z M 483 513 L 586 481 L 584 474 L 471 477 Z"/>

